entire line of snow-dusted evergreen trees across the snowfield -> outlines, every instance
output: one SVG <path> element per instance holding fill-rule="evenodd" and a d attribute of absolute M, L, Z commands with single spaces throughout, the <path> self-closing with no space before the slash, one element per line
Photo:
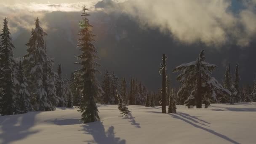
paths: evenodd
<path fill-rule="evenodd" d="M 256 101 L 256 83 L 253 88 L 240 89 L 239 66 L 236 65 L 235 79 L 232 80 L 230 65 L 227 65 L 224 82 L 221 85 L 211 72 L 216 65 L 205 61 L 204 51 L 190 63 L 181 64 L 172 72 L 179 72 L 176 78 L 181 86 L 171 88 L 171 79 L 167 75 L 167 56 L 159 69 L 162 75 L 162 88 L 158 93 L 150 92 L 137 78 L 119 80 L 115 72 L 106 71 L 102 84 L 97 80 L 100 74 L 99 56 L 93 45 L 95 35 L 91 31 L 87 13 L 83 6 L 82 20 L 79 21 L 77 48 L 81 51 L 76 56 L 80 69 L 72 72 L 70 78 L 63 77 L 61 65 L 53 70 L 54 58 L 47 54 L 45 36 L 47 33 L 35 19 L 35 28 L 26 43 L 27 53 L 22 59 L 13 56 L 15 46 L 11 41 L 8 19 L 5 18 L 0 42 L 0 114 L 13 115 L 29 111 L 53 111 L 56 107 L 73 107 L 82 113 L 84 123 L 99 120 L 96 103 L 118 104 L 123 115 L 128 115 L 126 105 L 144 105 L 145 107 L 162 106 L 162 113 L 176 112 L 176 104 L 185 104 L 188 108 L 209 107 L 211 103 L 230 103 Z"/>

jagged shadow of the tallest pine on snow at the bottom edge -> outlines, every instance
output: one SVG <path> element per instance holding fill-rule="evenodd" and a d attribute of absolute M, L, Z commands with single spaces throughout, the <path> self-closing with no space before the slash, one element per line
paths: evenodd
<path fill-rule="evenodd" d="M 114 126 L 110 126 L 105 132 L 103 122 L 94 122 L 83 125 L 86 134 L 93 136 L 94 141 L 85 141 L 88 144 L 125 144 L 125 139 L 115 137 Z"/>

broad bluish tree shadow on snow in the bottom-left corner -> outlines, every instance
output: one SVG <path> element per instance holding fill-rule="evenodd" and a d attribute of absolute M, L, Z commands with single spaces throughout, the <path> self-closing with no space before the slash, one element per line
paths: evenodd
<path fill-rule="evenodd" d="M 19 141 L 29 135 L 38 133 L 39 130 L 29 131 L 35 125 L 35 116 L 40 112 L 29 112 L 21 115 L 9 115 L 0 117 L 0 141 L 1 144 L 10 144 Z"/>

